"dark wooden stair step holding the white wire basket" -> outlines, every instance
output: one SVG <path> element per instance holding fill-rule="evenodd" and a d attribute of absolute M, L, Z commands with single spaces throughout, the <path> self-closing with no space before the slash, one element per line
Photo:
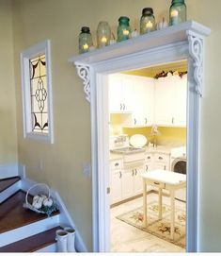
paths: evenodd
<path fill-rule="evenodd" d="M 0 204 L 0 233 L 47 218 L 46 214 L 34 213 L 29 209 L 24 209 L 25 195 L 25 192 L 20 190 Z M 55 214 L 59 214 L 59 211 L 52 215 Z"/>

